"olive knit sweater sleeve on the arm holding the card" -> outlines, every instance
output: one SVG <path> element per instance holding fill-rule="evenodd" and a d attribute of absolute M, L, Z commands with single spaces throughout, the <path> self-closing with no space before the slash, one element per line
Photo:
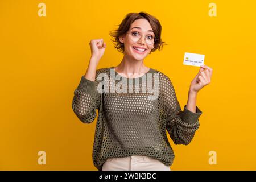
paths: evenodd
<path fill-rule="evenodd" d="M 181 110 L 170 78 L 166 79 L 164 89 L 167 108 L 166 130 L 174 144 L 187 145 L 193 139 L 196 130 L 199 129 L 199 117 L 202 111 L 196 106 L 196 113 L 194 113 L 187 109 L 187 105 L 184 106 L 183 111 Z"/>

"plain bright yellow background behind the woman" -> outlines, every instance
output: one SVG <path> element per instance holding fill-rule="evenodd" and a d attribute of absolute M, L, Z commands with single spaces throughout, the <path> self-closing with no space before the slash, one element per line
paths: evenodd
<path fill-rule="evenodd" d="M 38 4 L 46 3 L 46 17 Z M 217 17 L 208 15 L 209 3 Z M 199 67 L 183 65 L 184 52 L 205 55 L 212 82 L 200 90 L 200 128 L 188 146 L 175 146 L 172 170 L 255 170 L 255 1 L 0 1 L 0 169 L 97 170 L 92 162 L 96 120 L 79 121 L 73 91 L 85 74 L 91 39 L 107 48 L 98 68 L 122 54 L 109 31 L 127 13 L 160 20 L 167 46 L 144 63 L 168 75 L 181 107 Z M 38 151 L 46 151 L 46 165 Z M 217 164 L 208 163 L 209 151 Z"/>

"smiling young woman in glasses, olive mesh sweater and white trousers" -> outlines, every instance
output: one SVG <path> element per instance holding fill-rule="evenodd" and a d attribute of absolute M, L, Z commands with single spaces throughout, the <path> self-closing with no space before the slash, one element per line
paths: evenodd
<path fill-rule="evenodd" d="M 110 34 L 123 59 L 109 68 L 96 69 L 106 43 L 90 41 L 92 56 L 74 92 L 72 109 L 84 123 L 92 123 L 98 110 L 93 145 L 98 170 L 170 170 L 174 152 L 166 131 L 175 144 L 187 145 L 199 128 L 202 112 L 196 97 L 210 83 L 212 68 L 201 66 L 182 111 L 170 78 L 144 64 L 148 54 L 163 46 L 161 31 L 154 16 L 127 14 Z"/>

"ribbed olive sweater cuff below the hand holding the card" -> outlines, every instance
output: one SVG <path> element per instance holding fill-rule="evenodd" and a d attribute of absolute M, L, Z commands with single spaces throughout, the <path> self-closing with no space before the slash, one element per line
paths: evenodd
<path fill-rule="evenodd" d="M 197 122 L 197 119 L 199 119 L 200 115 L 202 114 L 202 111 L 196 106 L 196 113 L 190 111 L 184 106 L 183 113 L 181 115 L 181 118 L 184 122 L 187 122 L 189 124 L 193 124 Z"/>

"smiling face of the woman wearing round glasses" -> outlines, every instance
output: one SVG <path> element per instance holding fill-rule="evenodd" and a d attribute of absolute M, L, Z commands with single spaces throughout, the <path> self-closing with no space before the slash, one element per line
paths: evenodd
<path fill-rule="evenodd" d="M 133 34 L 134 36 L 141 35 L 141 39 L 134 42 L 131 40 L 129 34 Z M 125 46 L 124 54 L 135 60 L 143 60 L 148 53 L 151 52 L 151 49 L 154 48 L 154 44 L 147 44 L 145 40 L 145 38 L 151 38 L 151 36 L 155 36 L 155 34 L 150 23 L 146 19 L 135 20 L 131 24 L 130 30 L 127 34 L 119 38 L 120 42 L 124 43 Z M 145 49 L 145 51 L 139 51 L 135 48 L 142 48 Z"/>

